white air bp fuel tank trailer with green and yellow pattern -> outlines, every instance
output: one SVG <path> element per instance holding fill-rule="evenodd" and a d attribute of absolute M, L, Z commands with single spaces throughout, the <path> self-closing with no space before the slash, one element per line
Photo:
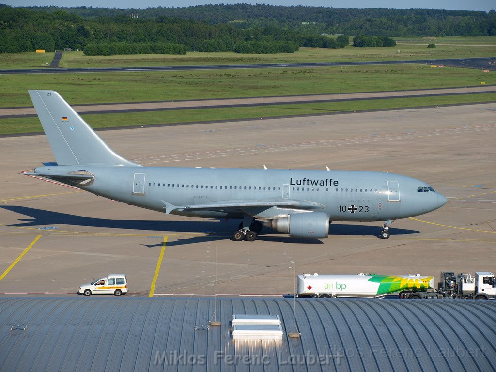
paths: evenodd
<path fill-rule="evenodd" d="M 406 290 L 434 288 L 434 276 L 416 275 L 298 275 L 298 297 L 362 297 L 382 298 Z"/>

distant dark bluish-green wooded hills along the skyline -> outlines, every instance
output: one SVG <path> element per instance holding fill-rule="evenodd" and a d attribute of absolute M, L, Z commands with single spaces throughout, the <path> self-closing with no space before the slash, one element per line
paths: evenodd
<path fill-rule="evenodd" d="M 160 16 L 191 19 L 209 24 L 232 23 L 236 27 L 278 26 L 314 34 L 373 36 L 495 36 L 495 10 L 444 9 L 340 9 L 317 6 L 266 4 L 217 4 L 146 9 L 93 7 L 31 7 L 43 11 L 64 9 L 84 18 L 130 16 L 155 19 Z"/>

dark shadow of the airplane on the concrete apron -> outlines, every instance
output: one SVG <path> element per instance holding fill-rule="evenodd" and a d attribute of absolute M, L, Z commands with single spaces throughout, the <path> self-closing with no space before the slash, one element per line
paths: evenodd
<path fill-rule="evenodd" d="M 86 227 L 102 227 L 107 229 L 129 229 L 154 232 L 151 235 L 161 235 L 162 232 L 185 232 L 185 233 L 210 233 L 208 236 L 188 237 L 175 242 L 167 243 L 168 246 L 194 244 L 205 241 L 225 240 L 231 238 L 232 232 L 238 229 L 239 221 L 231 220 L 227 223 L 220 223 L 218 220 L 198 220 L 198 221 L 142 221 L 142 220 L 111 220 L 103 218 L 93 218 L 77 216 L 74 214 L 54 212 L 44 209 L 29 208 L 17 205 L 2 205 L 1 208 L 29 216 L 31 218 L 18 219 L 22 223 L 5 225 L 7 227 L 59 227 L 57 225 L 73 225 Z M 331 224 L 329 227 L 330 236 L 364 236 L 377 237 L 381 231 L 380 226 L 370 226 L 365 224 Z M 417 234 L 417 230 L 397 229 L 391 227 L 391 235 Z M 276 234 L 274 236 L 274 234 Z M 268 236 L 270 235 L 270 236 Z M 275 231 L 264 228 L 258 235 L 262 241 L 278 241 L 281 243 L 300 244 L 322 244 L 317 239 L 290 238 L 286 234 L 278 234 Z M 144 245 L 155 247 L 157 245 Z"/>

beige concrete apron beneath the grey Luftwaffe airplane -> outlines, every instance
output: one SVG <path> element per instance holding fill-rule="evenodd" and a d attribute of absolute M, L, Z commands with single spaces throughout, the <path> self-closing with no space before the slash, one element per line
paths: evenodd
<path fill-rule="evenodd" d="M 239 221 L 164 215 L 19 175 L 54 161 L 49 144 L 44 135 L 4 137 L 0 276 L 8 272 L 1 293 L 76 296 L 79 285 L 118 272 L 129 279 L 128 297 L 148 297 L 152 284 L 155 296 L 213 294 L 216 273 L 218 293 L 283 295 L 293 293 L 295 271 L 438 276 L 495 269 L 495 103 L 100 135 L 147 166 L 328 166 L 329 177 L 333 169 L 392 172 L 428 182 L 449 202 L 394 222 L 389 240 L 377 238 L 375 222 L 333 223 L 322 240 L 264 228 L 255 242 L 233 242 Z"/>

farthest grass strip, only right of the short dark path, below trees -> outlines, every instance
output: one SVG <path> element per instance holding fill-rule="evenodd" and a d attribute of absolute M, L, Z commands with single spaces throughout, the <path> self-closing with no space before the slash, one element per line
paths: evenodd
<path fill-rule="evenodd" d="M 166 66 L 188 64 L 247 64 L 247 63 L 298 63 L 298 62 L 346 62 L 346 61 L 392 61 L 434 58 L 491 57 L 496 55 L 496 37 L 493 46 L 438 46 L 428 49 L 424 45 L 398 45 L 385 48 L 344 49 L 300 48 L 295 53 L 236 54 L 234 52 L 200 53 L 188 52 L 178 55 L 130 55 L 130 56 L 84 56 L 82 52 L 62 55 L 62 67 L 116 67 L 116 66 Z M 465 43 L 470 44 L 472 38 Z"/>

